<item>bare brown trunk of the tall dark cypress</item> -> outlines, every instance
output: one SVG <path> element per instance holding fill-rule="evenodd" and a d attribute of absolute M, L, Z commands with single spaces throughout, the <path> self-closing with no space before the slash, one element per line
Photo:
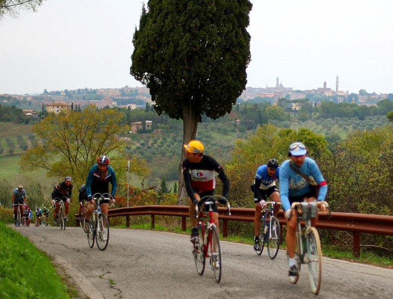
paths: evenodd
<path fill-rule="evenodd" d="M 182 153 L 179 162 L 179 189 L 178 189 L 178 204 L 188 204 L 187 192 L 183 181 L 182 163 L 185 158 L 185 149 L 183 145 L 188 144 L 197 136 L 199 110 L 193 108 L 191 103 L 183 104 L 183 144 Z"/>

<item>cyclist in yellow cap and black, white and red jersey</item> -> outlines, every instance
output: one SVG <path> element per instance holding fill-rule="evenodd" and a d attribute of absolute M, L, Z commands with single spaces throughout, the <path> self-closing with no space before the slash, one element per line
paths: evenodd
<path fill-rule="evenodd" d="M 206 195 L 214 195 L 215 172 L 223 183 L 222 196 L 228 199 L 229 180 L 221 165 L 211 156 L 203 154 L 203 144 L 197 140 L 184 145 L 186 159 L 183 161 L 183 177 L 190 202 L 190 218 L 193 228 L 191 230 L 191 242 L 198 237 L 197 218 L 194 217 L 194 206 L 200 198 Z M 218 230 L 218 208 L 214 204 L 213 220 Z"/>

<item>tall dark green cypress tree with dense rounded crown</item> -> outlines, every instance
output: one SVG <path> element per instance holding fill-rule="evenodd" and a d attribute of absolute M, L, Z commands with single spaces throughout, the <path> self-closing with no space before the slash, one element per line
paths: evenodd
<path fill-rule="evenodd" d="M 217 119 L 229 113 L 245 89 L 251 7 L 249 0 L 150 0 L 148 11 L 142 6 L 130 74 L 149 88 L 159 115 L 183 119 L 183 143 L 195 139 L 202 114 Z"/>

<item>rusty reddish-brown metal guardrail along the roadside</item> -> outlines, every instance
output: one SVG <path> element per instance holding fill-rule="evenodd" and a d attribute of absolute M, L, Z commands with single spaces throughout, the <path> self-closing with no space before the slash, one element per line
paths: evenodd
<path fill-rule="evenodd" d="M 222 234 L 228 235 L 228 221 L 254 222 L 255 209 L 231 208 L 231 215 L 226 215 L 226 208 L 218 208 L 219 219 L 223 220 Z M 108 210 L 108 218 L 126 217 L 126 227 L 129 227 L 129 216 L 151 215 L 151 227 L 154 228 L 155 215 L 182 217 L 182 230 L 186 231 L 189 206 L 147 205 L 125 207 Z M 283 210 L 280 210 L 278 219 L 281 225 L 286 225 Z M 352 250 L 354 255 L 360 253 L 360 233 L 393 236 L 393 216 L 369 215 L 355 213 L 332 212 L 331 218 L 326 212 L 318 212 L 317 228 L 349 231 L 353 234 Z"/>

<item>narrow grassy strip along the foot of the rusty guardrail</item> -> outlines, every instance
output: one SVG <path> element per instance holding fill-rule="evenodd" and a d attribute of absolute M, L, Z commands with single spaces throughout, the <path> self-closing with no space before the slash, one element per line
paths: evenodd
<path fill-rule="evenodd" d="M 113 227 L 126 228 L 125 224 L 113 226 Z M 139 223 L 139 224 L 130 225 L 130 228 L 150 230 L 151 225 L 150 225 L 150 223 L 142 223 L 142 224 Z M 163 226 L 163 225 L 160 225 L 157 223 L 154 226 L 154 230 L 179 233 L 179 234 L 183 234 L 183 235 L 190 235 L 191 234 L 190 228 L 188 228 L 184 232 L 184 231 L 182 231 L 182 228 L 180 228 L 180 227 L 167 227 L 167 226 Z M 253 237 L 250 238 L 250 237 L 246 237 L 246 236 L 230 235 L 230 236 L 227 236 L 226 238 L 223 238 L 222 234 L 220 234 L 220 240 L 234 242 L 234 243 L 249 244 L 249 245 L 254 244 Z M 280 249 L 285 249 L 285 248 L 286 248 L 286 244 L 283 241 L 283 244 L 280 245 Z M 253 248 L 250 247 L 250 250 L 253 250 Z M 337 259 L 337 260 L 345 260 L 348 262 L 369 264 L 369 265 L 373 265 L 373 266 L 377 266 L 377 267 L 393 269 L 393 255 L 392 254 L 386 255 L 386 256 L 379 256 L 379 255 L 373 254 L 371 252 L 361 251 L 360 257 L 355 257 L 351 251 L 345 251 L 345 252 L 344 251 L 337 251 L 335 249 L 330 249 L 328 246 L 324 246 L 324 248 L 322 249 L 322 255 L 325 257 Z"/>

